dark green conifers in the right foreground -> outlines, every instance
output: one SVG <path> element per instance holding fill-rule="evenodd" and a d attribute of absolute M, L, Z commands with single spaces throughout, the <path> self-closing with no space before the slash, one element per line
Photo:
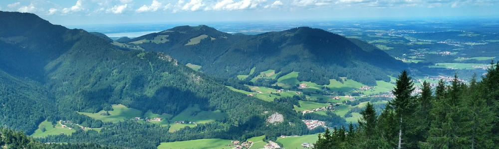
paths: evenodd
<path fill-rule="evenodd" d="M 326 131 L 314 149 L 498 149 L 499 63 L 482 81 L 455 75 L 434 91 L 425 81 L 418 95 L 410 78 L 399 75 L 396 97 L 380 114 L 368 104 L 358 127 Z"/>

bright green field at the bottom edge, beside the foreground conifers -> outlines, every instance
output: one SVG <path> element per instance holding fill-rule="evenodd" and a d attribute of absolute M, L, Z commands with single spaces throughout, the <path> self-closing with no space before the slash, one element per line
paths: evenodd
<path fill-rule="evenodd" d="M 286 137 L 286 138 L 277 139 L 277 141 L 282 143 L 282 146 L 284 146 L 282 148 L 285 149 L 303 149 L 303 147 L 301 147 L 301 144 L 306 142 L 313 144 L 317 142 L 317 140 L 319 140 L 317 136 L 318 134 L 303 135 L 297 137 Z"/>

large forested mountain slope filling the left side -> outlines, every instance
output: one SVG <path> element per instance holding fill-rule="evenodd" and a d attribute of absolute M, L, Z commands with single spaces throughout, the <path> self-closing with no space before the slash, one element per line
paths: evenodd
<path fill-rule="evenodd" d="M 220 79 L 193 71 L 169 55 L 122 51 L 105 38 L 53 25 L 30 13 L 0 11 L 0 18 L 0 126 L 32 134 L 44 120 L 53 125 L 70 120 L 103 130 L 40 140 L 140 149 L 156 148 L 160 142 L 310 133 L 301 115 L 291 109 L 234 92 Z M 137 121 L 103 123 L 76 112 L 112 110 L 111 104 L 171 115 L 197 104 L 228 117 L 169 133 L 168 127 Z M 283 115 L 284 121 L 266 122 L 273 113 Z"/>

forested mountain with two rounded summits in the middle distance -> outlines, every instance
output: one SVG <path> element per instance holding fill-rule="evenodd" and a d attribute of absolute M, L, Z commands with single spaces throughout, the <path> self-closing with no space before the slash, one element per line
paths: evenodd
<path fill-rule="evenodd" d="M 317 84 L 348 77 L 375 85 L 375 80 L 389 81 L 387 75 L 405 67 L 375 46 L 310 27 L 244 35 L 204 25 L 179 26 L 123 43 L 167 53 L 184 64 L 202 66 L 200 71 L 223 77 L 250 74 L 255 68 L 255 72 L 282 72 L 281 76 L 300 72 L 298 80 Z"/>

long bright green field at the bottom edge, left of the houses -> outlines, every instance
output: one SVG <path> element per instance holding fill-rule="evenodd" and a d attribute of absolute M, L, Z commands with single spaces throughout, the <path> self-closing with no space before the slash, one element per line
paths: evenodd
<path fill-rule="evenodd" d="M 232 149 L 231 140 L 223 139 L 198 139 L 189 141 L 177 141 L 161 143 L 158 149 Z"/>

